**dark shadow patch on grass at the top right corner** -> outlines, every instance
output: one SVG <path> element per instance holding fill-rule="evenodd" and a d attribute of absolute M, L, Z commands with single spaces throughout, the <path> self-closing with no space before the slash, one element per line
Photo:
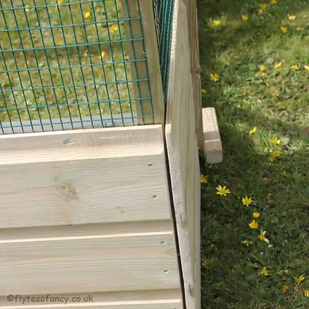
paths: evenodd
<path fill-rule="evenodd" d="M 295 15 L 309 6 L 308 0 L 278 0 L 274 5 L 267 1 L 268 8 L 260 16 L 265 21 L 264 25 L 256 24 L 250 17 L 246 23 L 240 23 L 237 27 L 224 25 L 225 19 L 241 22 L 242 15 L 258 15 L 259 4 L 262 2 L 239 0 L 231 4 L 229 0 L 197 0 L 201 65 L 213 65 L 216 54 L 226 49 L 232 49 L 240 42 L 251 44 L 252 42 L 265 41 L 271 33 L 267 28 L 277 28 L 280 33 L 282 22 L 288 14 Z M 220 17 L 222 17 L 223 23 L 221 27 L 212 29 L 207 25 L 208 19 L 219 19 Z M 301 33 L 304 37 L 308 34 L 307 30 L 306 26 Z"/>

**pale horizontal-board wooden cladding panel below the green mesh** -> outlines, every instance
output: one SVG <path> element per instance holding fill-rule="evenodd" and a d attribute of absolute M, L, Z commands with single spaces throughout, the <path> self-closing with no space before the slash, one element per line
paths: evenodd
<path fill-rule="evenodd" d="M 161 125 L 9 134 L 0 145 L 1 309 L 183 309 Z"/>

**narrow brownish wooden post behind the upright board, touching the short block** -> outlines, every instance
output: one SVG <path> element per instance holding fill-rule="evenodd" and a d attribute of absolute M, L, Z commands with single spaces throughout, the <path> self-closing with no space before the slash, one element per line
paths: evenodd
<path fill-rule="evenodd" d="M 184 0 L 187 8 L 189 47 L 190 47 L 190 65 L 191 79 L 193 86 L 193 99 L 195 109 L 195 126 L 197 136 L 197 146 L 200 153 L 204 149 L 204 134 L 202 120 L 202 97 L 201 97 L 201 68 L 200 68 L 200 52 L 198 42 L 198 26 L 197 26 L 197 8 L 196 0 Z"/>

